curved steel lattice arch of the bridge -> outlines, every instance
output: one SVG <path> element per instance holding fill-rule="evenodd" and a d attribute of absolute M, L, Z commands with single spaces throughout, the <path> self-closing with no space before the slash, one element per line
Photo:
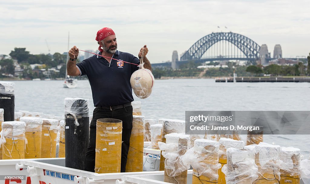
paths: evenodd
<path fill-rule="evenodd" d="M 211 33 L 199 39 L 193 44 L 188 51 L 186 51 L 180 60 L 201 59 L 202 55 L 215 43 L 226 40 L 234 44 L 241 50 L 246 58 L 257 59 L 259 58 L 260 46 L 253 40 L 246 36 L 237 33 Z"/>

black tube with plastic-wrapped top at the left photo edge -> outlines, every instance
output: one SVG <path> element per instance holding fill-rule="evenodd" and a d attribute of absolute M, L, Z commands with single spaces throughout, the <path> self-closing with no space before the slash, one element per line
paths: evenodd
<path fill-rule="evenodd" d="M 4 121 L 14 121 L 15 95 L 13 82 L 0 81 L 0 108 L 4 109 Z"/>

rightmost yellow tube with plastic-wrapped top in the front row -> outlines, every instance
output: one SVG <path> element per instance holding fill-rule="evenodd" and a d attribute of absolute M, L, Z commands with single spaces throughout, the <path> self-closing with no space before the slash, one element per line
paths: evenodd
<path fill-rule="evenodd" d="M 280 179 L 283 182 L 299 183 L 300 150 L 294 147 L 281 147 L 279 159 L 283 162 L 280 166 Z"/>

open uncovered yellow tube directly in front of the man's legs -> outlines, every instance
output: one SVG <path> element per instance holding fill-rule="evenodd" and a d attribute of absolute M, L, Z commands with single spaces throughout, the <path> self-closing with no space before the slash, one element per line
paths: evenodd
<path fill-rule="evenodd" d="M 98 119 L 96 127 L 95 172 L 121 172 L 122 121 Z"/>

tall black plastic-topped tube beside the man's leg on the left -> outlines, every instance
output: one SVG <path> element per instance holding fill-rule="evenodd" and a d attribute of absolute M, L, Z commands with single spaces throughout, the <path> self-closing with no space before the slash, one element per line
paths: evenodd
<path fill-rule="evenodd" d="M 65 157 L 66 167 L 84 169 L 89 143 L 88 99 L 65 98 Z M 79 154 L 76 154 L 79 153 Z"/>

